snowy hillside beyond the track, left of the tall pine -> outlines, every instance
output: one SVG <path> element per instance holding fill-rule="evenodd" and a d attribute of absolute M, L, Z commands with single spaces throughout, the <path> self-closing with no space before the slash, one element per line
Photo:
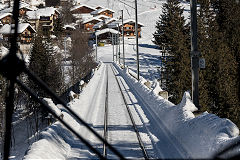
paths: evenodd
<path fill-rule="evenodd" d="M 140 59 L 140 71 L 141 75 L 153 81 L 154 79 L 159 79 L 159 69 L 160 69 L 160 50 L 152 42 L 153 34 L 156 30 L 155 25 L 159 20 L 159 16 L 162 13 L 162 5 L 165 0 L 138 0 L 138 21 L 143 23 L 142 37 L 139 38 L 139 59 Z M 88 4 L 90 6 L 104 6 L 115 11 L 114 17 L 118 18 L 121 16 L 121 10 L 123 10 L 124 20 L 125 19 L 135 19 L 135 10 L 131 7 L 135 7 L 134 1 L 122 1 L 122 0 L 82 0 L 82 3 Z M 127 4 L 127 5 L 126 5 Z M 131 7 L 129 7 L 131 6 Z M 189 3 L 182 2 L 181 6 L 184 7 L 184 16 L 189 19 Z M 122 42 L 122 41 L 121 41 Z M 125 38 L 125 57 L 126 65 L 133 70 L 137 70 L 136 66 L 136 40 L 134 37 Z M 109 48 L 102 48 L 106 50 L 111 50 Z M 116 48 L 117 49 L 117 48 Z M 101 49 L 100 49 L 101 50 Z M 120 52 L 122 56 L 122 45 L 120 47 Z M 121 62 L 122 63 L 122 62 Z"/>

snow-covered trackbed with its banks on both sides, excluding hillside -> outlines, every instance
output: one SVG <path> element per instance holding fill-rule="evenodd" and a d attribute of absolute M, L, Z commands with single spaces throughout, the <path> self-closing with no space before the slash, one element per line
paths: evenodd
<path fill-rule="evenodd" d="M 143 158 L 110 65 L 109 63 L 101 65 L 79 99 L 70 102 L 69 107 L 102 135 L 108 74 L 109 142 L 127 158 Z M 117 65 L 114 66 L 114 74 L 121 84 L 127 104 L 151 158 L 211 158 L 224 144 L 239 138 L 239 130 L 230 120 L 208 113 L 195 117 L 192 112 L 196 107 L 192 104 L 189 93 L 185 93 L 180 104 L 174 105 L 156 96 L 153 91 L 137 82 Z M 99 151 L 102 150 L 101 142 L 70 114 L 64 110 L 62 112 L 66 122 Z M 31 146 L 25 159 L 96 158 L 59 122 L 48 127 L 40 137 L 40 140 Z M 116 158 L 111 153 L 108 156 Z"/>

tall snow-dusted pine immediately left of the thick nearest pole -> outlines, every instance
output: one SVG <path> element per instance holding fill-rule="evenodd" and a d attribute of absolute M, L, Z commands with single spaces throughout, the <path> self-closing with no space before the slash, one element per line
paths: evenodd
<path fill-rule="evenodd" d="M 179 103 L 184 91 L 191 89 L 189 26 L 183 16 L 183 8 L 177 0 L 168 0 L 156 24 L 154 43 L 165 48 L 167 90 L 171 101 Z"/>

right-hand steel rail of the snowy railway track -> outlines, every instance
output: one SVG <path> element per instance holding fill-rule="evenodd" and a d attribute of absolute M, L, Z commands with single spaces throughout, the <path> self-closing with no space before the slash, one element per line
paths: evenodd
<path fill-rule="evenodd" d="M 112 66 L 112 65 L 111 65 L 111 69 L 112 69 L 113 73 L 115 73 L 114 70 L 113 70 L 113 66 Z M 127 111 L 128 111 L 129 117 L 130 117 L 130 120 L 131 120 L 132 125 L 133 125 L 133 129 L 134 129 L 134 131 L 135 131 L 135 133 L 136 133 L 136 136 L 137 136 L 137 139 L 138 139 L 138 142 L 139 142 L 139 146 L 140 146 L 140 148 L 141 148 L 141 150 L 142 150 L 143 156 L 144 156 L 145 159 L 149 159 L 147 150 L 146 150 L 146 148 L 145 148 L 145 146 L 144 146 L 144 143 L 143 143 L 143 141 L 142 141 L 142 138 L 141 138 L 141 136 L 140 136 L 140 134 L 139 134 L 139 131 L 138 131 L 138 129 L 137 129 L 137 125 L 136 125 L 135 120 L 134 120 L 134 118 L 133 118 L 133 115 L 132 115 L 132 113 L 131 113 L 131 111 L 130 111 L 130 109 L 129 109 L 129 107 L 128 107 L 127 100 L 126 100 L 126 98 L 125 98 L 125 96 L 124 96 L 124 94 L 123 94 L 122 88 L 121 88 L 121 86 L 120 86 L 120 83 L 119 83 L 119 81 L 118 81 L 118 79 L 117 79 L 116 74 L 114 74 L 114 77 L 115 77 L 115 79 L 116 79 L 116 81 L 117 81 L 118 87 L 119 87 L 120 92 L 121 92 L 121 95 L 122 95 L 122 97 L 123 97 L 124 104 L 125 104 L 125 106 L 126 106 L 126 108 L 127 108 Z"/>

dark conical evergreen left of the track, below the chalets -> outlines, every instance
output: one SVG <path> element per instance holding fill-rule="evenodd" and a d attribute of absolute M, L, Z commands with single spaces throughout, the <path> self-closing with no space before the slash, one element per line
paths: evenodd
<path fill-rule="evenodd" d="M 44 42 L 45 41 L 45 42 Z M 36 73 L 54 92 L 60 93 L 62 86 L 61 64 L 53 53 L 50 39 L 43 39 L 41 33 L 34 40 L 29 68 Z M 46 93 L 38 86 L 30 83 L 31 88 L 41 97 Z"/>

